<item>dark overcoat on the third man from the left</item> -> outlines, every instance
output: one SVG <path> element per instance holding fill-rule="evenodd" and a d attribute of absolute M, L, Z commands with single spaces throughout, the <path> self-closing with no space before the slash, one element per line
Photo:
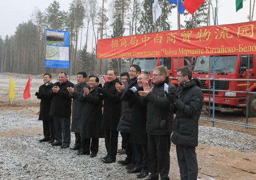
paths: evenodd
<path fill-rule="evenodd" d="M 83 99 L 84 87 L 90 89 L 88 83 L 84 82 L 81 85 L 74 85 L 73 94 L 71 95 L 69 93 L 69 97 L 73 98 L 71 131 L 74 133 L 80 133 L 80 122 L 82 119 L 82 109 L 84 104 L 83 101 L 81 101 L 81 98 Z"/>

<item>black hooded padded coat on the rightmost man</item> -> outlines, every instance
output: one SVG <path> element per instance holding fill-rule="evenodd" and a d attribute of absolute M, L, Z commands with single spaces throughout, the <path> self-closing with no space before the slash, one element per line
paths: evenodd
<path fill-rule="evenodd" d="M 175 145 L 196 147 L 198 145 L 198 120 L 203 105 L 201 82 L 196 77 L 179 84 L 176 117 L 173 123 L 172 142 Z"/>

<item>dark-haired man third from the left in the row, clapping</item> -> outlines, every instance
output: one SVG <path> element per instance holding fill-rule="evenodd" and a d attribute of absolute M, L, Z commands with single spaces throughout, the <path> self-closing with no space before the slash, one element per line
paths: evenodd
<path fill-rule="evenodd" d="M 77 84 L 74 88 L 67 87 L 69 97 L 73 98 L 72 105 L 72 124 L 71 131 L 75 134 L 75 145 L 72 150 L 79 150 L 81 148 L 81 137 L 80 137 L 80 123 L 82 119 L 83 102 L 80 99 L 83 98 L 84 87 L 90 88 L 86 82 L 87 74 L 84 71 L 77 73 Z"/>

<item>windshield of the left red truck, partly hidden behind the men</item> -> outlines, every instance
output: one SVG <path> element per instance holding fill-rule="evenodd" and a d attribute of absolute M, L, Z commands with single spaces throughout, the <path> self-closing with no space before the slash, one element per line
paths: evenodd
<path fill-rule="evenodd" d="M 147 58 L 135 58 L 133 60 L 133 64 L 139 65 L 141 67 L 141 71 L 153 72 L 153 69 L 156 65 L 156 61 L 158 58 L 147 57 Z"/>

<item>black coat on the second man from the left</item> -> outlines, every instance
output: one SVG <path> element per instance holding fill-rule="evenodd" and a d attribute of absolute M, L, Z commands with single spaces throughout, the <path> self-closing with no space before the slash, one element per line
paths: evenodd
<path fill-rule="evenodd" d="M 60 82 L 54 83 L 54 86 L 59 86 L 60 90 L 54 93 L 53 90 L 49 92 L 51 99 L 50 115 L 52 116 L 71 116 L 72 99 L 69 97 L 67 87 L 73 87 L 74 84 L 68 80 L 62 84 Z"/>

